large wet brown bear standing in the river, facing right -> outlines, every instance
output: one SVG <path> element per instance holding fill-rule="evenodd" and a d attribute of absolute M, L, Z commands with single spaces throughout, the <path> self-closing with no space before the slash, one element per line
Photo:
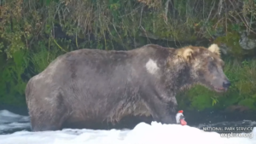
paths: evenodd
<path fill-rule="evenodd" d="M 117 123 L 129 115 L 176 124 L 177 92 L 193 84 L 226 91 L 230 81 L 223 66 L 217 44 L 208 49 L 148 44 L 128 51 L 68 52 L 26 85 L 32 130 L 61 130 L 64 123 Z"/>

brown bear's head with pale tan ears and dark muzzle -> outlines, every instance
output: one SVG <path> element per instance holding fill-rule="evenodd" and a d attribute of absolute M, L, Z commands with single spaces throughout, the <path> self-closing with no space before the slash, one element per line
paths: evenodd
<path fill-rule="evenodd" d="M 224 92 L 230 87 L 217 44 L 212 44 L 208 49 L 195 46 L 177 49 L 177 57 L 189 67 L 189 78 L 194 84 L 204 85 L 217 92 Z"/>

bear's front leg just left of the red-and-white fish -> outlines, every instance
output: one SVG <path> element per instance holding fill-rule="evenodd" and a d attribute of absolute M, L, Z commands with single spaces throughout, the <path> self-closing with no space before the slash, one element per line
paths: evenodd
<path fill-rule="evenodd" d="M 145 102 L 154 120 L 162 124 L 177 124 L 177 101 L 174 95 L 148 90 Z"/>

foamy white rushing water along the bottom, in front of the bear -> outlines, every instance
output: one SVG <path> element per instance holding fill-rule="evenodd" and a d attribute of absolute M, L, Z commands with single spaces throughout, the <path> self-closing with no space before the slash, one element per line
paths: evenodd
<path fill-rule="evenodd" d="M 0 133 L 30 127 L 29 118 L 0 111 Z M 133 130 L 59 130 L 44 132 L 18 131 L 0 135 L 0 144 L 256 144 L 253 138 L 223 138 L 216 132 L 177 124 L 137 124 Z"/>

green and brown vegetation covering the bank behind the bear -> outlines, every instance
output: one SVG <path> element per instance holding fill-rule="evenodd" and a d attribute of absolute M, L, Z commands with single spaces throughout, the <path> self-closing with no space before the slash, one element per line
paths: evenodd
<path fill-rule="evenodd" d="M 252 50 L 240 32 L 255 38 L 256 1 L 223 0 L 1 0 L 0 104 L 26 105 L 29 78 L 56 56 L 74 49 L 134 49 L 147 43 L 180 47 L 207 38 L 230 48 L 227 94 L 202 86 L 178 97 L 180 107 L 203 110 L 245 105 L 255 109 Z M 242 61 L 242 62 L 241 62 Z M 189 105 L 188 105 L 189 104 Z"/>

